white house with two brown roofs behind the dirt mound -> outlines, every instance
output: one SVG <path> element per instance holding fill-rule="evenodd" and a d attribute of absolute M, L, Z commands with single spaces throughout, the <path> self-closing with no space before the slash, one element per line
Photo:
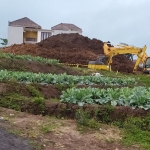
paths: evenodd
<path fill-rule="evenodd" d="M 21 43 L 38 43 L 52 35 L 62 33 L 79 33 L 82 29 L 74 24 L 61 23 L 49 29 L 42 29 L 40 25 L 27 17 L 8 22 L 8 46 Z"/>

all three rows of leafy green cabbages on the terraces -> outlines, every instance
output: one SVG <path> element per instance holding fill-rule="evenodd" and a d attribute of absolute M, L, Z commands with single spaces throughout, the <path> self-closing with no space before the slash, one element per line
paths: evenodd
<path fill-rule="evenodd" d="M 46 64 L 59 64 L 58 60 L 33 57 L 30 55 L 14 55 L 10 53 L 0 53 L 1 58 L 21 59 L 36 61 Z M 60 96 L 60 102 L 73 103 L 83 106 L 87 104 L 131 106 L 135 108 L 150 108 L 150 88 L 137 86 L 137 80 L 131 77 L 97 77 L 92 75 L 75 76 L 64 74 L 44 74 L 20 71 L 0 71 L 0 81 L 15 80 L 19 83 L 41 85 L 66 85 Z M 79 88 L 79 85 L 86 85 L 87 88 Z M 94 88 L 92 86 L 111 86 L 111 88 Z M 115 86 L 119 87 L 116 88 Z M 132 86 L 133 88 L 129 87 Z"/>

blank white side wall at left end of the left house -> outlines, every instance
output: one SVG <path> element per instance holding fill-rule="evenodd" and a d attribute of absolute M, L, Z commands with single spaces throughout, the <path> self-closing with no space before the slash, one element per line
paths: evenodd
<path fill-rule="evenodd" d="M 8 46 L 23 43 L 23 27 L 8 26 Z"/>

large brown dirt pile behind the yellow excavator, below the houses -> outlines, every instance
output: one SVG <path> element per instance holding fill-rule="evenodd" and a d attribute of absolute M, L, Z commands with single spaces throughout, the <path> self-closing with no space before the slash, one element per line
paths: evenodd
<path fill-rule="evenodd" d="M 87 65 L 103 52 L 103 42 L 89 39 L 79 34 L 59 34 L 49 37 L 40 43 L 15 44 L 2 51 L 15 54 L 30 54 L 51 59 L 59 59 L 61 63 Z M 113 58 L 112 69 L 120 72 L 132 72 L 133 62 L 124 55 Z"/>

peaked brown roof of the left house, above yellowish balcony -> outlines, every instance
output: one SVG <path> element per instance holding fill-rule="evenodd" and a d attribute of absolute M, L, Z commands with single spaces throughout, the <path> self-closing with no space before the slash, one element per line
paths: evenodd
<path fill-rule="evenodd" d="M 28 28 L 37 28 L 37 29 L 41 29 L 42 27 L 40 25 L 38 25 L 37 23 L 33 22 L 32 20 L 30 20 L 27 17 L 9 22 L 9 26 L 19 26 L 19 27 L 28 27 Z"/>

